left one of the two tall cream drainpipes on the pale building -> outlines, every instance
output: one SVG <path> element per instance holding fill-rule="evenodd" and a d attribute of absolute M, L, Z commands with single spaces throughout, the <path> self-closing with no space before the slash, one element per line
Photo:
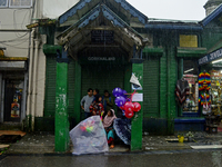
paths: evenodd
<path fill-rule="evenodd" d="M 28 125 L 30 122 L 30 109 L 31 109 L 31 95 L 32 95 L 32 65 L 33 65 L 33 47 L 34 47 L 34 29 L 31 31 L 31 43 L 30 43 L 30 56 L 29 56 L 29 88 L 28 88 L 28 97 L 27 97 L 27 119 Z M 30 127 L 30 126 L 29 126 Z"/>

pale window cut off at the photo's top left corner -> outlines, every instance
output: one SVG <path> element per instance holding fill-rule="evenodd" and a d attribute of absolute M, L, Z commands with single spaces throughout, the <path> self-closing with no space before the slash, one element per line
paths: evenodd
<path fill-rule="evenodd" d="M 0 8 L 30 8 L 32 0 L 0 0 Z"/>

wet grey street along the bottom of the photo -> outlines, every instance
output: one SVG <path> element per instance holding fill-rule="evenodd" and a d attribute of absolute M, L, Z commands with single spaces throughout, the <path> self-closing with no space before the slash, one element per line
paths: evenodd
<path fill-rule="evenodd" d="M 171 150 L 102 155 L 8 155 L 1 167 L 221 167 L 222 150 Z"/>

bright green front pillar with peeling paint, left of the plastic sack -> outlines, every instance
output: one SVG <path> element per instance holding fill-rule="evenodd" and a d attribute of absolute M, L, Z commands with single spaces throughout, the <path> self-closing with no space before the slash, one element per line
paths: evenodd
<path fill-rule="evenodd" d="M 68 120 L 68 63 L 57 62 L 56 89 L 56 151 L 67 151 L 69 148 Z"/>

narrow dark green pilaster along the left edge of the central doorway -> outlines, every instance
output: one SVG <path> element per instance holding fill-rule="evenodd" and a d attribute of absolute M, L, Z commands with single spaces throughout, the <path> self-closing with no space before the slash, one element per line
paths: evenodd
<path fill-rule="evenodd" d="M 74 70 L 74 117 L 77 124 L 80 122 L 81 118 L 81 108 L 80 108 L 80 101 L 81 101 L 81 66 L 75 61 L 75 70 Z"/>

